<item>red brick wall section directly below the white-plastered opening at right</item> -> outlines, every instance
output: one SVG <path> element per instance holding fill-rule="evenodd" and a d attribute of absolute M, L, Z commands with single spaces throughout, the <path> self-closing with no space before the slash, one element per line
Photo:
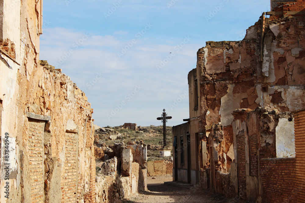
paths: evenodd
<path fill-rule="evenodd" d="M 261 159 L 260 174 L 266 202 L 297 202 L 295 158 Z"/>

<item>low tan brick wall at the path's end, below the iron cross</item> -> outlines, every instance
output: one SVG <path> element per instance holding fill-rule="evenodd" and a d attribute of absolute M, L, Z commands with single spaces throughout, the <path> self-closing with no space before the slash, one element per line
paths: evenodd
<path fill-rule="evenodd" d="M 158 160 L 147 162 L 147 175 L 165 175 L 173 173 L 173 162 L 169 160 Z"/>

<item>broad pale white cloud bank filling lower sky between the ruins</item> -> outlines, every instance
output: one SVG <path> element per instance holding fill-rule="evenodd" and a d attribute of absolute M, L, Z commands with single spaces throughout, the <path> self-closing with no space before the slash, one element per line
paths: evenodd
<path fill-rule="evenodd" d="M 163 108 L 169 109 L 175 115 L 175 119 L 178 119 L 176 123 L 173 120 L 174 124 L 188 117 L 188 98 L 173 110 L 170 109 L 170 104 L 180 94 L 188 91 L 187 74 L 194 68 L 190 61 L 196 65 L 198 45 L 187 44 L 161 71 L 158 71 L 156 65 L 169 52 L 174 51 L 176 44 L 152 45 L 144 40 L 138 40 L 123 57 L 118 58 L 117 51 L 128 40 L 121 41 L 111 35 L 90 35 L 77 49 L 71 46 L 82 36 L 81 32 L 64 28 L 46 29 L 41 36 L 40 58 L 55 65 L 69 49 L 73 49 L 73 53 L 60 65 L 60 68 L 77 86 L 86 90 L 88 100 L 94 108 L 93 117 L 96 124 L 100 126 L 115 126 L 124 122 L 157 124 L 154 114 L 159 116 L 159 111 Z M 179 41 L 183 39 L 184 37 Z M 103 74 L 102 78 L 90 85 L 98 73 Z M 109 120 L 107 114 L 110 114 L 117 104 L 126 100 L 126 95 L 137 85 L 142 89 Z"/>

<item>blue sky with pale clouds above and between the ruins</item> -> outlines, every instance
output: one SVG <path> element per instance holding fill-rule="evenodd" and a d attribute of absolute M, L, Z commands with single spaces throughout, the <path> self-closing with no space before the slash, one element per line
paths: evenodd
<path fill-rule="evenodd" d="M 62 68 L 99 126 L 189 117 L 188 72 L 206 41 L 239 41 L 270 1 L 45 0 L 40 59 Z M 170 54 L 171 53 L 171 54 Z"/>

